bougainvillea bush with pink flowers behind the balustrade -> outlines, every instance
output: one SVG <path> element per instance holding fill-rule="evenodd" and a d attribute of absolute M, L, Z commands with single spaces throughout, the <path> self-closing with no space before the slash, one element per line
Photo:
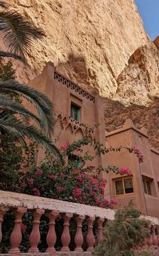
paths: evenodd
<path fill-rule="evenodd" d="M 94 149 L 94 156 L 89 152 L 83 152 L 83 146 L 90 145 Z M 35 148 L 32 146 L 32 148 Z M 80 140 L 69 144 L 68 142 L 60 148 L 60 158 L 55 158 L 50 152 L 46 152 L 46 157 L 40 167 L 34 161 L 36 152 L 32 149 L 26 154 L 27 165 L 22 165 L 23 171 L 14 171 L 13 179 L 5 179 L 1 182 L 0 189 L 12 190 L 35 196 L 43 196 L 68 202 L 78 202 L 97 207 L 112 208 L 116 200 L 104 198 L 106 179 L 101 176 L 102 172 L 113 171 L 120 175 L 130 175 L 131 171 L 127 167 L 94 167 L 90 165 L 93 158 L 106 154 L 110 151 L 120 151 L 119 148 L 104 148 L 93 137 L 93 129 L 86 127 L 85 135 Z M 143 156 L 137 148 L 127 148 L 143 161 Z M 76 158 L 68 158 L 76 152 Z M 67 161 L 67 159 L 70 159 Z M 25 170 L 25 172 L 24 172 Z M 8 175 L 10 175 L 8 173 Z M 7 182 L 8 180 L 8 182 Z"/>

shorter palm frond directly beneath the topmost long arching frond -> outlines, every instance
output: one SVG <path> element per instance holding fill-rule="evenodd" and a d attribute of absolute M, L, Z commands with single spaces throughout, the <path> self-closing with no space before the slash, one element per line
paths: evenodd
<path fill-rule="evenodd" d="M 0 97 L 0 110 L 9 110 L 14 113 L 27 116 L 28 118 L 35 120 L 37 124 L 41 127 L 41 129 L 43 128 L 41 125 L 41 120 L 35 114 L 27 110 L 19 102 L 12 100 L 8 97 L 8 95 L 5 95 L 3 93 L 1 93 Z"/>

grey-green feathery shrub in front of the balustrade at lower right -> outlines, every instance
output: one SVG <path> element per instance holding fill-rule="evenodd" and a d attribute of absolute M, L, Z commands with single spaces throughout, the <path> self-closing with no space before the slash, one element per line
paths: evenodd
<path fill-rule="evenodd" d="M 141 246 L 142 239 L 148 237 L 145 226 L 149 221 L 141 219 L 140 212 L 130 202 L 118 209 L 113 221 L 104 228 L 104 240 L 95 247 L 94 256 L 134 256 L 133 247 Z"/>

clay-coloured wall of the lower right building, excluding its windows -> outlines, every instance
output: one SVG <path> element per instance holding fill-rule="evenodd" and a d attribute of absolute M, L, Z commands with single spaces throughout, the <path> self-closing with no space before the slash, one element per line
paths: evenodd
<path fill-rule="evenodd" d="M 106 133 L 106 146 L 137 146 L 141 150 L 144 161 L 139 163 L 135 154 L 130 154 L 126 150 L 121 152 L 110 152 L 107 155 L 108 165 L 116 165 L 120 167 L 128 167 L 131 170 L 133 177 L 134 193 L 116 195 L 114 179 L 120 177 L 114 173 L 109 173 L 110 183 L 110 198 L 118 200 L 119 205 L 125 205 L 130 200 L 135 202 L 135 205 L 142 213 L 146 215 L 159 216 L 159 190 L 157 181 L 159 170 L 159 153 L 152 150 L 148 142 L 147 132 L 145 129 L 139 131 L 135 129 L 133 123 L 127 121 L 121 129 Z M 154 179 L 151 184 L 152 195 L 145 194 L 143 191 L 142 175 Z M 124 177 L 124 176 L 122 176 Z M 127 177 L 125 175 L 125 177 Z"/>

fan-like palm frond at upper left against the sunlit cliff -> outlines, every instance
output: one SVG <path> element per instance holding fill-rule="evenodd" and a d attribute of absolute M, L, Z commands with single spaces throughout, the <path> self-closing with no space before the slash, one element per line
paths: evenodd
<path fill-rule="evenodd" d="M 10 51 L 21 56 L 28 54 L 32 39 L 42 39 L 45 35 L 18 12 L 0 11 L 0 30 L 4 33 L 3 39 Z"/>

